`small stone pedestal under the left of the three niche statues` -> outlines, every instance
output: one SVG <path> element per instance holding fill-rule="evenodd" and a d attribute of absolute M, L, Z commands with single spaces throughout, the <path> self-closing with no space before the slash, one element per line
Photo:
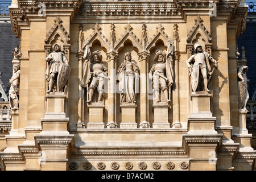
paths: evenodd
<path fill-rule="evenodd" d="M 89 122 L 87 129 L 104 129 L 103 114 L 105 105 L 101 103 L 92 103 L 88 105 L 89 109 Z"/>

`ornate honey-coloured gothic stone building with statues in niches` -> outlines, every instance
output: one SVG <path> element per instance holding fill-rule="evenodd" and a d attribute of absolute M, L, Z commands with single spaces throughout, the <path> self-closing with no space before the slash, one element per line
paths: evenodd
<path fill-rule="evenodd" d="M 254 169 L 244 1 L 13 0 L 9 13 L 19 87 L 2 170 Z"/>

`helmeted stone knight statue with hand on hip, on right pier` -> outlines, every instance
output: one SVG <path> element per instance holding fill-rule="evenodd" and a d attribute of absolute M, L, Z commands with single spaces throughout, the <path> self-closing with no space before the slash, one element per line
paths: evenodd
<path fill-rule="evenodd" d="M 194 50 L 195 54 L 186 61 L 190 72 L 189 75 L 191 76 L 193 92 L 205 91 L 210 93 L 208 82 L 214 70 L 218 67 L 218 62 L 208 52 L 203 51 L 200 44 L 195 44 Z M 210 62 L 214 63 L 213 68 Z M 203 82 L 201 82 L 200 77 L 203 77 Z"/>

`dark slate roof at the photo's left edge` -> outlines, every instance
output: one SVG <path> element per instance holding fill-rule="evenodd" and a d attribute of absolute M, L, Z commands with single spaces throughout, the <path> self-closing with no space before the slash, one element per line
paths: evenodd
<path fill-rule="evenodd" d="M 19 48 L 19 38 L 15 38 L 10 23 L 0 23 L 0 69 L 2 72 L 1 81 L 8 95 L 10 84 L 9 79 L 13 75 L 13 49 Z"/>

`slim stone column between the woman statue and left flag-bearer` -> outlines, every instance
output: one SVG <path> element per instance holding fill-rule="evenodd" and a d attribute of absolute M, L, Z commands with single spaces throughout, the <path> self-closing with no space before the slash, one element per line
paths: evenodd
<path fill-rule="evenodd" d="M 115 92 L 115 85 L 116 85 L 116 67 L 117 67 L 117 54 L 118 52 L 115 52 L 113 49 L 110 52 L 107 52 L 108 56 L 108 62 L 109 62 L 109 68 L 108 68 L 108 73 L 109 73 L 109 88 L 108 88 L 108 100 L 109 100 L 109 108 L 108 108 L 108 124 L 106 125 L 107 128 L 117 128 L 117 123 L 116 123 L 116 92 Z"/>

